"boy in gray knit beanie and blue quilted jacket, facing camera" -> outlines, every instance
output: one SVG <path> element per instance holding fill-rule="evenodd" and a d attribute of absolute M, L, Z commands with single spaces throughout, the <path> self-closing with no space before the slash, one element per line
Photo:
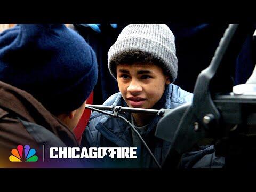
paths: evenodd
<path fill-rule="evenodd" d="M 117 79 L 120 92 L 112 95 L 103 105 L 173 109 L 191 102 L 193 94 L 172 84 L 178 68 L 175 52 L 174 35 L 166 25 L 126 26 L 108 53 L 108 68 Z M 126 113 L 123 116 L 134 125 L 161 164 L 167 156 L 170 143 L 154 136 L 160 117 L 138 113 Z M 83 145 L 137 147 L 138 164 L 129 159 L 131 164 L 120 166 L 156 167 L 138 136 L 121 119 L 93 113 L 85 129 Z"/>

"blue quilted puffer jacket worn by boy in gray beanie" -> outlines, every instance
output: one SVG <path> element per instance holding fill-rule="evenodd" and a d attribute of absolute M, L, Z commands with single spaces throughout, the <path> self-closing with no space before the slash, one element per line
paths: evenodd
<path fill-rule="evenodd" d="M 192 102 L 193 94 L 182 90 L 179 86 L 170 84 L 166 86 L 164 94 L 162 98 L 156 103 L 153 107 L 154 109 L 166 108 L 173 109 L 178 107 L 186 102 Z M 121 93 L 116 93 L 108 98 L 103 105 L 107 106 L 123 106 L 127 107 L 126 102 L 123 100 Z M 131 122 L 130 114 L 122 114 L 127 120 Z M 155 116 L 151 123 L 149 124 L 148 130 L 146 132 L 145 137 L 143 139 L 149 146 L 150 150 L 156 157 L 157 161 L 162 164 L 167 157 L 167 151 L 170 147 L 170 142 L 164 141 L 162 139 L 156 138 L 154 136 L 157 122 L 159 121 L 158 116 Z M 89 123 L 85 129 L 83 139 L 82 139 L 83 147 L 133 147 L 133 141 L 131 136 L 131 127 L 127 125 L 122 119 L 113 118 L 108 115 L 103 115 L 101 113 L 94 112 L 92 113 Z M 201 149 L 198 151 L 199 154 L 193 152 L 191 155 L 186 154 L 185 161 L 182 162 L 182 167 L 193 167 L 196 164 L 197 167 L 200 167 L 200 159 L 199 156 L 203 158 L 206 154 L 213 154 L 214 149 L 213 146 L 205 147 L 205 150 Z M 195 155 L 197 154 L 197 155 Z M 202 154 L 202 155 L 200 155 Z M 189 158 L 192 158 L 191 161 Z M 210 157 L 210 156 L 209 156 Z M 215 156 L 211 156 L 211 158 L 215 158 Z M 193 162 L 193 160 L 195 162 Z M 209 160 L 209 159 L 208 159 Z M 112 163 L 111 163 L 112 162 Z M 211 166 L 209 162 L 214 163 L 214 159 L 210 159 L 205 164 L 205 159 L 203 161 L 203 165 L 201 167 Z M 151 158 L 148 151 L 142 145 L 141 148 L 137 148 L 137 159 L 124 159 L 115 162 L 113 159 L 110 159 L 110 162 L 99 164 L 99 166 L 104 167 L 157 167 L 153 158 Z M 219 164 L 218 164 L 219 165 Z"/>

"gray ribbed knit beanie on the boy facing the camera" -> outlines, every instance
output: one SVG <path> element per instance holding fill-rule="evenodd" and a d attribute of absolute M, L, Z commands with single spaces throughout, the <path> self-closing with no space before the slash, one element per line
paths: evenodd
<path fill-rule="evenodd" d="M 115 79 L 116 63 L 113 60 L 126 51 L 143 51 L 152 55 L 169 75 L 170 81 L 175 81 L 178 69 L 175 38 L 167 25 L 130 24 L 122 30 L 108 52 L 108 69 Z"/>

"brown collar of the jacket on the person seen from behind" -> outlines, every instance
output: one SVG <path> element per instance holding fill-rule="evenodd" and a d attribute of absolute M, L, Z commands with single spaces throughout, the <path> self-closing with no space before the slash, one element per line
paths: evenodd
<path fill-rule="evenodd" d="M 25 121 L 41 125 L 58 137 L 62 137 L 63 140 L 65 139 L 67 143 L 78 146 L 74 133 L 31 94 L 0 81 L 0 95 L 0 108 L 2 108 L 0 115 L 3 116 L 4 109 L 7 113 L 16 114 Z"/>

